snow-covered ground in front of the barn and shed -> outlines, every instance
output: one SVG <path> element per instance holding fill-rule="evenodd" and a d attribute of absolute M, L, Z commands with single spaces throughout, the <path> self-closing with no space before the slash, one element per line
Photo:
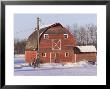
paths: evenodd
<path fill-rule="evenodd" d="M 40 68 L 33 68 L 25 63 L 24 55 L 15 55 L 15 76 L 96 76 L 97 65 L 81 61 L 78 63 L 45 63 Z"/>

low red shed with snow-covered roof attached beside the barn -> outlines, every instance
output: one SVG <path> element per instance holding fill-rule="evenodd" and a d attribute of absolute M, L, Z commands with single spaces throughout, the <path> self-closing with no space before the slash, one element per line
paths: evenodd
<path fill-rule="evenodd" d="M 87 60 L 87 61 L 96 61 L 97 51 L 95 46 L 86 45 L 86 46 L 76 46 L 74 47 L 74 53 L 76 55 L 76 60 Z"/>

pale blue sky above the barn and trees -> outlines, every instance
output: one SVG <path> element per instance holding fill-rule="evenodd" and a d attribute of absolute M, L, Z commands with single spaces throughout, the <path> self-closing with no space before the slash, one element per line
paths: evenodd
<path fill-rule="evenodd" d="M 48 25 L 59 22 L 63 26 L 78 24 L 97 25 L 96 14 L 15 14 L 14 15 L 14 38 L 27 39 L 34 31 L 37 24 L 37 17 L 40 17 L 40 25 Z"/>

